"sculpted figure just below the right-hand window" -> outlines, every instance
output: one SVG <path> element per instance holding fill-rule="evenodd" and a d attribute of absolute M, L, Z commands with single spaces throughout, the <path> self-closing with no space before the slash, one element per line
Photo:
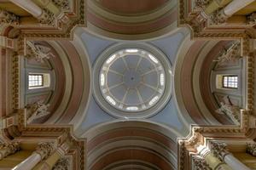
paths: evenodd
<path fill-rule="evenodd" d="M 236 125 L 240 125 L 241 111 L 240 111 L 240 108 L 237 107 L 236 105 L 229 105 L 229 104 L 224 104 L 223 102 L 220 102 L 220 108 L 216 112 L 229 116 L 232 122 L 234 122 Z"/>

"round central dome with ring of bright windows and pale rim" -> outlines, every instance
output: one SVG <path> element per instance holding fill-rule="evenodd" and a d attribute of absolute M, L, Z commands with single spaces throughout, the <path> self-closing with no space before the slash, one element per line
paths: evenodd
<path fill-rule="evenodd" d="M 115 117 L 144 118 L 160 111 L 171 96 L 171 65 L 157 48 L 121 43 L 105 50 L 94 65 L 94 96 Z"/>

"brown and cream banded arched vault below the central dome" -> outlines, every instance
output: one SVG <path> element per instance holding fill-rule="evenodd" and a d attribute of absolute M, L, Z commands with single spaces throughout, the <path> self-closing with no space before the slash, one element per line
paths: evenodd
<path fill-rule="evenodd" d="M 89 169 L 176 169 L 175 131 L 153 122 L 108 122 L 84 133 Z"/>

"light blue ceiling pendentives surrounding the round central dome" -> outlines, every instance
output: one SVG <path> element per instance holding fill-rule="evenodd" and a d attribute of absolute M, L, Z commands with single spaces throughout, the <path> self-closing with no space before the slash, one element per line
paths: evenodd
<path fill-rule="evenodd" d="M 170 36 L 145 42 L 154 45 L 156 48 L 159 48 L 164 54 L 166 54 L 167 58 L 171 62 L 171 65 L 173 66 L 175 64 L 175 59 L 177 59 L 177 51 L 183 42 L 183 39 L 186 37 L 183 32 L 184 31 L 179 30 Z M 108 48 L 114 43 L 122 42 L 115 42 L 113 40 L 104 39 L 102 37 L 96 37 L 86 31 L 81 34 L 80 38 L 84 43 L 84 47 L 86 48 L 87 53 L 89 54 L 91 67 L 93 67 L 96 58 L 102 53 L 102 51 L 104 51 L 104 49 Z M 158 122 L 168 127 L 174 128 L 178 132 L 184 133 L 183 122 L 181 122 L 178 117 L 178 110 L 174 97 L 175 96 L 172 95 L 172 98 L 167 103 L 166 107 L 158 114 L 148 118 L 148 121 Z M 103 122 L 114 120 L 116 120 L 116 118 L 110 116 L 107 112 L 102 111 L 101 107 L 97 105 L 96 100 L 92 97 L 90 99 L 90 105 L 84 118 L 84 122 L 82 122 L 76 133 L 80 136 L 90 127 L 94 127 Z"/>

